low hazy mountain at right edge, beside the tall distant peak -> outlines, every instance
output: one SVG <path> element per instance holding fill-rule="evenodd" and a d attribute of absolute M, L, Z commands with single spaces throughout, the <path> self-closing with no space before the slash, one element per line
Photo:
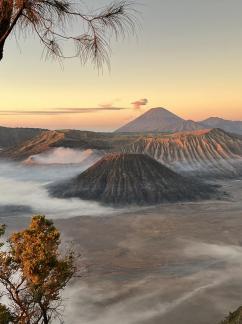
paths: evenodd
<path fill-rule="evenodd" d="M 200 122 L 207 128 L 221 128 L 226 132 L 242 134 L 242 121 L 226 120 L 218 117 L 211 117 Z"/>

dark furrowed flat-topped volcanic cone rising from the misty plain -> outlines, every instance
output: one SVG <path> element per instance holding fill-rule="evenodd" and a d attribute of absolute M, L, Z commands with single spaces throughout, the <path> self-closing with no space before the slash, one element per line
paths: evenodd
<path fill-rule="evenodd" d="M 49 187 L 58 198 L 155 205 L 208 199 L 214 186 L 188 180 L 144 154 L 108 154 L 78 177 Z"/>

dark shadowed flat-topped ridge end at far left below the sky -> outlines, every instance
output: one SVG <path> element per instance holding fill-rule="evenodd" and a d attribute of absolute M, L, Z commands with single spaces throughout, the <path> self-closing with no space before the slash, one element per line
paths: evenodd
<path fill-rule="evenodd" d="M 38 128 L 10 128 L 0 126 L 0 148 L 16 146 L 34 138 L 43 130 Z"/>

